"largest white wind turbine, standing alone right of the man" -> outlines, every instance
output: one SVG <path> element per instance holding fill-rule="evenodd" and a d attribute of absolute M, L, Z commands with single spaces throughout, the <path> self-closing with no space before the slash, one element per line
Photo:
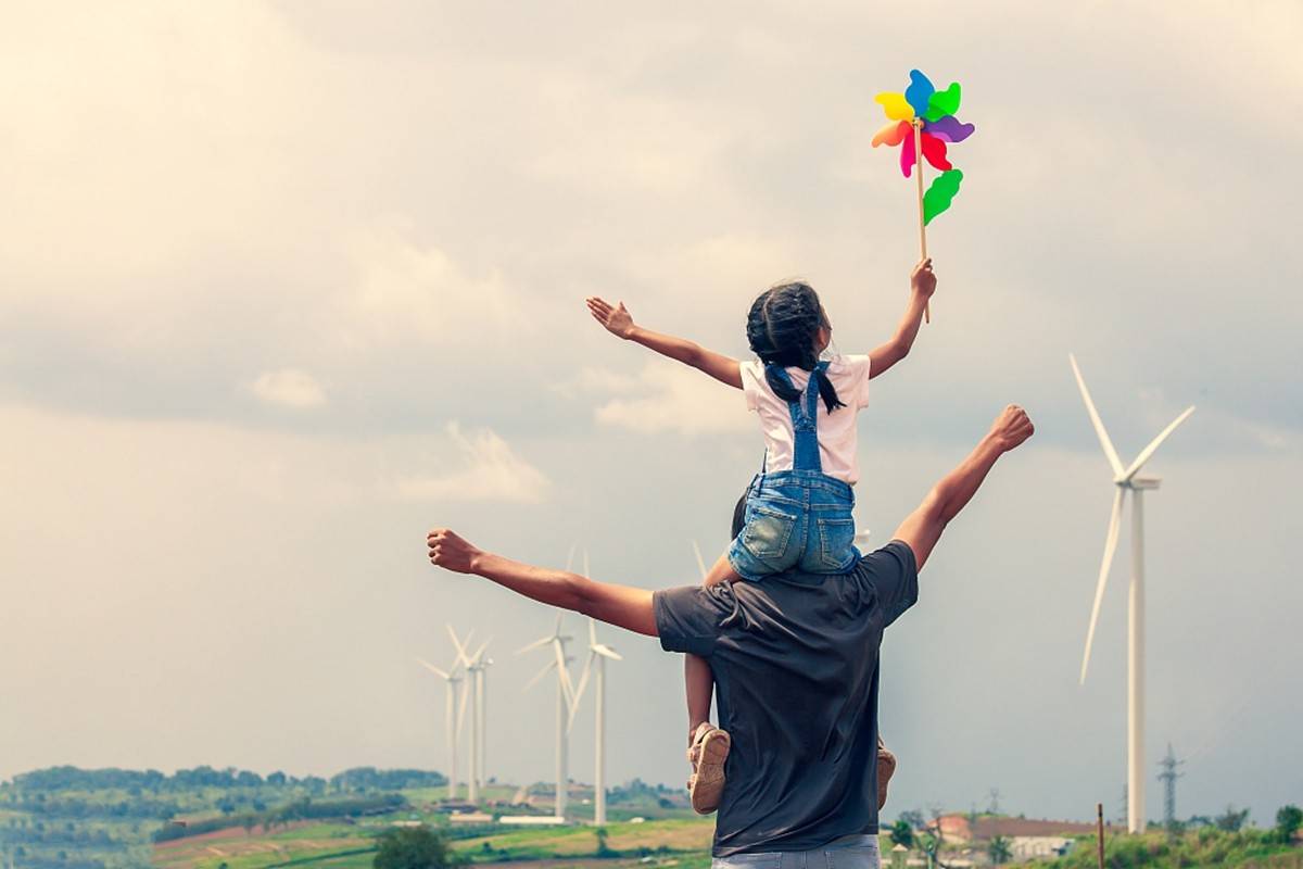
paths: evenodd
<path fill-rule="evenodd" d="M 1095 644 L 1095 627 L 1100 620 L 1100 603 L 1104 601 L 1104 588 L 1109 581 L 1109 565 L 1118 547 L 1118 532 L 1122 528 L 1122 502 L 1131 492 L 1131 594 L 1127 608 L 1127 831 L 1144 833 L 1144 511 L 1141 495 L 1148 489 L 1158 489 L 1157 477 L 1138 477 L 1140 469 L 1154 451 L 1173 431 L 1195 412 L 1194 405 L 1186 408 L 1179 417 L 1158 433 L 1149 446 L 1140 451 L 1128 466 L 1122 465 L 1118 451 L 1113 448 L 1109 433 L 1104 429 L 1100 412 L 1095 409 L 1091 392 L 1085 388 L 1076 357 L 1068 354 L 1072 374 L 1081 390 L 1085 412 L 1100 438 L 1100 447 L 1113 469 L 1113 485 L 1117 494 L 1113 498 L 1113 512 L 1109 516 L 1109 532 L 1104 538 L 1104 559 L 1100 562 L 1100 580 L 1095 586 L 1095 605 L 1091 607 L 1091 627 L 1085 632 L 1085 651 L 1081 655 L 1081 683 L 1085 683 L 1085 670 L 1091 663 L 1091 646 Z"/>

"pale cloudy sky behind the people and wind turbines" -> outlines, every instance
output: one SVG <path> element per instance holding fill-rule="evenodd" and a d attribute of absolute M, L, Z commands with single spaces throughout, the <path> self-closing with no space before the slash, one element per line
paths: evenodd
<path fill-rule="evenodd" d="M 1147 468 L 1151 773 L 1186 758 L 1181 816 L 1303 800 L 1303 10 L 878 5 L 7 3 L 0 776 L 446 769 L 416 658 L 451 623 L 493 638 L 487 771 L 549 779 L 515 650 L 552 616 L 426 530 L 696 581 L 754 420 L 582 300 L 745 357 L 801 275 L 840 352 L 885 340 L 917 237 L 873 95 L 917 66 L 977 133 L 933 322 L 861 416 L 861 528 L 1005 404 L 1037 434 L 885 640 L 887 814 L 1121 812 L 1130 535 L 1079 685 L 1111 486 L 1070 352 L 1124 461 L 1197 405 Z M 680 784 L 680 661 L 601 637 L 610 779 Z"/>

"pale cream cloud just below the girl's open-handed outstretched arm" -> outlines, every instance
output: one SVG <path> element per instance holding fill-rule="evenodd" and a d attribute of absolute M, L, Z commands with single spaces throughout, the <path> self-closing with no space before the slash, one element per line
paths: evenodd
<path fill-rule="evenodd" d="M 590 375 L 589 380 L 599 383 L 601 379 Z M 611 383 L 622 384 L 619 379 Z M 642 395 L 622 396 L 601 405 L 593 414 L 599 423 L 642 434 L 672 431 L 683 435 L 753 427 L 741 393 L 700 371 L 654 361 L 633 383 L 632 391 Z"/>

